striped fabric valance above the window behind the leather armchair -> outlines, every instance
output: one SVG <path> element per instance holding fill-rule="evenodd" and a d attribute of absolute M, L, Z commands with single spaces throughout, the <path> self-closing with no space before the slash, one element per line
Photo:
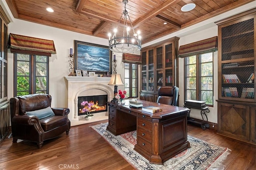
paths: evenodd
<path fill-rule="evenodd" d="M 27 37 L 10 33 L 8 48 L 11 53 L 51 56 L 56 54 L 54 42 L 52 40 Z"/>

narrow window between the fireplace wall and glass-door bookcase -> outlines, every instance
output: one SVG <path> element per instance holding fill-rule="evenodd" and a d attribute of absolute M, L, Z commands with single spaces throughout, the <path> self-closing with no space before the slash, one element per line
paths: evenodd
<path fill-rule="evenodd" d="M 124 63 L 124 90 L 127 98 L 138 97 L 138 64 Z"/>

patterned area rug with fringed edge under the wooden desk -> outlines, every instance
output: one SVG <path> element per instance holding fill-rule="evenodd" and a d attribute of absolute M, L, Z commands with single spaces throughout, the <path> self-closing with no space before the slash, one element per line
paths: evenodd
<path fill-rule="evenodd" d="M 136 131 L 115 136 L 106 130 L 108 123 L 92 126 L 121 156 L 138 170 L 211 170 L 218 168 L 230 154 L 230 149 L 218 147 L 188 136 L 190 148 L 170 158 L 163 165 L 151 164 L 136 152 Z"/>

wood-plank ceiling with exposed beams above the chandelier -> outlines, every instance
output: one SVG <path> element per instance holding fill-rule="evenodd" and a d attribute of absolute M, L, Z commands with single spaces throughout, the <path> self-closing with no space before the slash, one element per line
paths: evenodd
<path fill-rule="evenodd" d="M 129 0 L 126 10 L 142 44 L 254 0 Z M 124 10 L 122 0 L 6 0 L 14 18 L 108 39 Z M 196 8 L 182 12 L 185 4 Z M 54 12 L 46 11 L 51 7 Z M 122 19 L 123 20 L 123 19 Z M 163 23 L 167 22 L 166 25 Z M 123 21 L 121 21 L 123 23 Z M 123 27 L 118 27 L 122 33 Z"/>

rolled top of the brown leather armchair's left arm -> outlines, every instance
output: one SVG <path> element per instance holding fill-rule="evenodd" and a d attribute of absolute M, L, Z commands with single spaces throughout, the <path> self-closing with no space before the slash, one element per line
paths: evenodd
<path fill-rule="evenodd" d="M 36 116 L 30 115 L 16 115 L 12 118 L 12 123 L 22 124 L 22 125 L 40 125 L 40 121 Z"/>

